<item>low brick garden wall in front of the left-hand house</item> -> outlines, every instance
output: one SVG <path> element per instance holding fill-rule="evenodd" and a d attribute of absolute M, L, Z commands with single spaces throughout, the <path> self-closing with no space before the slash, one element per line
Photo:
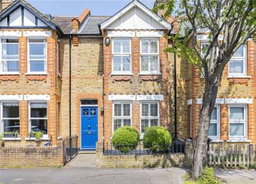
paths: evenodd
<path fill-rule="evenodd" d="M 58 146 L 4 146 L 0 145 L 0 167 L 61 167 L 64 165 L 62 140 Z"/>

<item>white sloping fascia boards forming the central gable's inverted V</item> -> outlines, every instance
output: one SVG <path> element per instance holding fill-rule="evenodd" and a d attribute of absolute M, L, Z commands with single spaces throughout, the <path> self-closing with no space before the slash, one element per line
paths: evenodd
<path fill-rule="evenodd" d="M 124 9 L 122 9 L 119 13 L 115 14 L 113 17 L 106 20 L 106 22 L 101 23 L 101 30 L 104 30 L 106 27 L 108 27 L 108 25 L 111 25 L 113 22 L 116 21 L 116 19 L 119 19 L 119 17 L 121 17 L 123 14 L 125 14 L 126 12 L 128 12 L 130 9 L 132 9 L 135 6 L 139 7 L 143 12 L 145 12 L 150 17 L 155 19 L 157 22 L 159 22 L 161 25 L 163 25 L 163 27 L 166 27 L 166 29 L 171 30 L 171 24 L 169 24 L 165 20 L 158 17 L 158 15 L 153 14 L 153 12 L 151 12 L 148 8 L 146 8 L 144 5 L 142 5 L 138 1 L 133 1 L 128 6 L 126 6 Z"/>

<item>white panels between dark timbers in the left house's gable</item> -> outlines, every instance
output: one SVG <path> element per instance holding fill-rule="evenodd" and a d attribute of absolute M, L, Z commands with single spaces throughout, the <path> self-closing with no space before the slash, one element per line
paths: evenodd
<path fill-rule="evenodd" d="M 7 17 L 0 22 L 0 26 L 7 27 Z M 17 8 L 12 14 L 9 14 L 9 26 L 16 27 L 22 26 L 22 8 Z M 35 15 L 31 14 L 27 9 L 24 9 L 24 25 L 28 27 L 36 26 Z M 38 19 L 38 26 L 46 26 L 40 19 Z"/>

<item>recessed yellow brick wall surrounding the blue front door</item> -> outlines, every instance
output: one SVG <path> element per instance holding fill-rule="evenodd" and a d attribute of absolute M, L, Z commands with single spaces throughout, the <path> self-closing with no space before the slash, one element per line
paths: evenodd
<path fill-rule="evenodd" d="M 60 43 L 61 58 L 61 136 L 69 136 L 69 39 Z M 103 139 L 103 40 L 79 38 L 72 44 L 72 135 L 80 148 L 80 101 L 98 100 L 98 139 Z"/>

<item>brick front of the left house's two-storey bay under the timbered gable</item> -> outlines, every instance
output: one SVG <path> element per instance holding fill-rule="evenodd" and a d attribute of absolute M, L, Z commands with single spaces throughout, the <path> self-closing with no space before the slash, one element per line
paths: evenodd
<path fill-rule="evenodd" d="M 43 30 L 41 31 L 51 31 Z M 22 32 L 27 31 L 19 30 Z M 35 30 L 33 30 L 35 31 Z M 47 38 L 47 74 L 27 74 L 27 37 L 19 38 L 19 74 L 0 75 L 0 95 L 50 95 L 48 103 L 48 138 L 52 136 L 53 144 L 57 139 L 57 91 L 59 79 L 56 74 L 57 53 L 56 53 L 56 31 L 51 31 L 52 36 Z M 20 144 L 25 145 L 25 138 L 28 136 L 28 101 L 20 103 Z"/>

